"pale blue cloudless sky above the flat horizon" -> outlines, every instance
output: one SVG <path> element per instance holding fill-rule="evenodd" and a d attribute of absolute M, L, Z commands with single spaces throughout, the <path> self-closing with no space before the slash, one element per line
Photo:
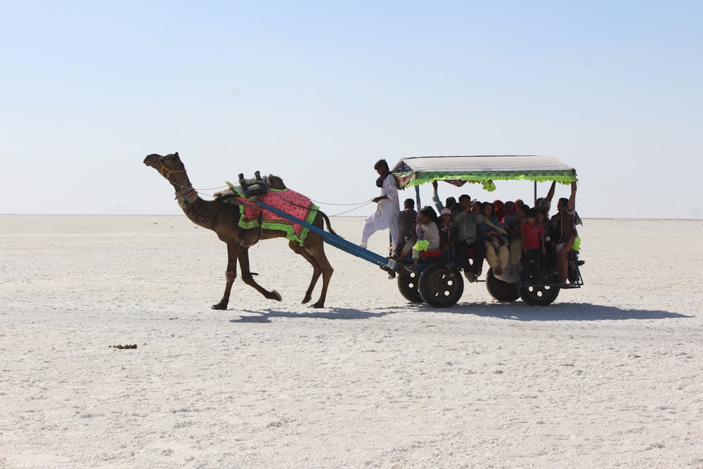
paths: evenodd
<path fill-rule="evenodd" d="M 0 214 L 179 214 L 143 165 L 179 152 L 203 198 L 259 170 L 360 216 L 380 158 L 551 155 L 583 218 L 699 219 L 702 24 L 676 0 L 0 0 Z M 496 186 L 439 195 L 533 195 Z"/>

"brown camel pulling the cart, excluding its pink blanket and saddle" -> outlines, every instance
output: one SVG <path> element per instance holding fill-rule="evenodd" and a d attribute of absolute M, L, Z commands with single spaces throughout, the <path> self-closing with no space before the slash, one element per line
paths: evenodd
<path fill-rule="evenodd" d="M 254 281 L 254 275 L 256 274 L 252 274 L 250 271 L 249 248 L 258 243 L 259 240 L 285 237 L 285 231 L 240 228 L 238 224 L 240 217 L 239 206 L 221 203 L 217 200 L 202 200 L 195 189 L 193 189 L 193 185 L 188 179 L 188 174 L 186 174 L 186 167 L 183 166 L 178 153 L 165 156 L 148 155 L 144 159 L 144 164 L 156 169 L 159 174 L 164 176 L 174 186 L 176 189 L 176 200 L 179 200 L 179 205 L 181 205 L 188 219 L 196 225 L 202 226 L 202 228 L 214 231 L 217 233 L 217 237 L 227 244 L 228 259 L 224 295 L 219 303 L 212 305 L 212 309 L 227 309 L 232 284 L 237 277 L 237 262 L 239 262 L 242 270 L 244 283 L 252 286 L 269 300 L 280 301 L 280 293 L 276 290 L 266 290 Z M 285 189 L 283 180 L 278 176 L 269 176 L 269 181 L 271 182 L 271 187 Z M 323 212 L 317 212 L 313 221 L 314 226 L 323 229 L 323 219 L 327 222 L 328 231 L 334 233 L 330 228 L 330 220 Z M 290 249 L 296 254 L 302 255 L 313 266 L 312 280 L 305 292 L 302 303 L 306 304 L 311 300 L 315 284 L 320 278 L 320 274 L 322 274 L 320 297 L 311 306 L 314 308 L 324 307 L 327 288 L 334 269 L 325 255 L 323 237 L 314 231 L 309 231 L 303 245 L 293 240 L 288 245 Z"/>

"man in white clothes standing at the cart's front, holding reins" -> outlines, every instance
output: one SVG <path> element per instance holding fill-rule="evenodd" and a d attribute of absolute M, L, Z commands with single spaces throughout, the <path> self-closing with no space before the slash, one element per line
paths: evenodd
<path fill-rule="evenodd" d="M 368 238 L 379 230 L 389 229 L 391 232 L 391 249 L 396 249 L 400 243 L 398 233 L 398 215 L 400 207 L 398 205 L 398 183 L 395 176 L 388 169 L 386 160 L 378 160 L 373 169 L 378 172 L 376 186 L 381 188 L 381 195 L 373 198 L 373 202 L 378 203 L 376 211 L 366 217 L 361 233 L 361 247 L 366 248 Z"/>

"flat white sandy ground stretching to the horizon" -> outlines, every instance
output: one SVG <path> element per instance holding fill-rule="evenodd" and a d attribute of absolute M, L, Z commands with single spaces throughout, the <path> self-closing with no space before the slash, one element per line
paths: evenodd
<path fill-rule="evenodd" d="M 213 311 L 225 245 L 183 216 L 0 216 L 0 468 L 703 468 L 703 221 L 585 223 L 550 307 L 410 304 L 328 247 L 309 309 L 269 240 L 283 301 Z"/>

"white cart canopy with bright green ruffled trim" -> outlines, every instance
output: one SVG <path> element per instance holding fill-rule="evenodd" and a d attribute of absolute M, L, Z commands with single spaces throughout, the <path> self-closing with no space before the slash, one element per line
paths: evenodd
<path fill-rule="evenodd" d="M 403 158 L 391 169 L 399 188 L 419 186 L 431 181 L 451 181 L 482 184 L 494 191 L 493 181 L 527 180 L 557 181 L 570 184 L 576 179 L 576 169 L 553 156 L 416 156 Z"/>

